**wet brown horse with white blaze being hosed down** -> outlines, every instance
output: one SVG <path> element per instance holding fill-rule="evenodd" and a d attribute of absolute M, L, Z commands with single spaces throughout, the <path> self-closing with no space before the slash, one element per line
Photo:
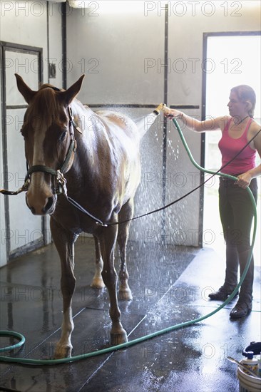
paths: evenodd
<path fill-rule="evenodd" d="M 71 356 L 71 302 L 76 287 L 73 248 L 81 232 L 91 233 L 95 239 L 96 274 L 92 287 L 105 284 L 108 289 L 111 344 L 126 342 L 118 308 L 114 248 L 117 241 L 121 254 L 119 298 L 131 300 L 126 267 L 130 222 L 98 225 L 71 205 L 66 195 L 58 194 L 57 188 L 64 190 L 66 184 L 68 195 L 102 222 L 131 219 L 133 197 L 140 182 L 139 143 L 145 133 L 144 123 L 139 130 L 126 115 L 109 110 L 94 113 L 83 106 L 75 98 L 83 76 L 66 91 L 49 84 L 32 91 L 21 76 L 16 75 L 16 81 L 29 104 L 21 129 L 29 164 L 26 203 L 34 215 L 51 215 L 51 233 L 61 259 L 63 323 L 54 356 Z M 154 118 L 158 112 L 155 113 Z"/>

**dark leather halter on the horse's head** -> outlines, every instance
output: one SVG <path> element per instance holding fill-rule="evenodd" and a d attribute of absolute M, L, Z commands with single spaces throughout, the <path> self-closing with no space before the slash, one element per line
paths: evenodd
<path fill-rule="evenodd" d="M 68 107 L 68 116 L 69 116 L 69 132 L 71 136 L 71 143 L 69 145 L 66 158 L 63 161 L 63 164 L 61 165 L 60 169 L 54 170 L 51 167 L 45 166 L 45 165 L 34 165 L 29 167 L 29 170 L 26 173 L 26 177 L 24 179 L 25 184 L 27 185 L 27 188 L 30 185 L 30 179 L 31 179 L 31 174 L 34 172 L 45 172 L 47 174 L 53 175 L 56 177 L 56 181 L 58 183 L 58 187 L 55 190 L 56 194 L 63 193 L 67 195 L 67 189 L 66 189 L 66 178 L 64 178 L 63 174 L 68 171 L 68 163 L 71 160 L 72 155 L 76 151 L 76 139 L 74 137 L 74 127 L 76 126 L 73 122 L 73 115 L 71 111 L 71 107 Z"/>

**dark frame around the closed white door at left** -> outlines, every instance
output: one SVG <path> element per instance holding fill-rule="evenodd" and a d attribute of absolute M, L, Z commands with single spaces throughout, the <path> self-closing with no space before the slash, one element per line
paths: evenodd
<path fill-rule="evenodd" d="M 19 43 L 11 43 L 0 41 L 0 67 L 1 67 L 1 128 L 2 128 L 2 145 L 3 145 L 3 185 L 5 189 L 8 189 L 9 184 L 7 180 L 8 173 L 8 157 L 7 157 L 7 126 L 6 126 L 6 110 L 7 109 L 23 109 L 27 108 L 27 105 L 6 105 L 6 52 L 17 52 L 17 53 L 27 53 L 34 54 L 38 58 L 38 82 L 42 83 L 43 81 L 43 48 L 38 48 L 36 46 L 28 46 L 21 45 Z M 29 252 L 38 247 L 46 244 L 46 218 L 42 217 L 41 219 L 41 231 L 43 234 L 43 239 L 37 242 L 29 242 L 29 244 L 25 244 L 23 247 L 20 247 L 17 252 L 11 254 L 11 242 L 10 242 L 10 217 L 9 217 L 9 197 L 4 196 L 4 215 L 5 215 L 5 229 L 8 235 L 6 236 L 6 257 L 8 261 L 10 259 L 14 259 L 14 257 L 18 257 L 25 252 Z"/>

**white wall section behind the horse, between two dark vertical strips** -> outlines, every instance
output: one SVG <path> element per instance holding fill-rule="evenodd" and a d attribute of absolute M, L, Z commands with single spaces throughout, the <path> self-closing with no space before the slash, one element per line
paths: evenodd
<path fill-rule="evenodd" d="M 96 15 L 76 9 L 68 16 L 67 53 L 73 62 L 68 86 L 86 73 L 78 96 L 83 103 L 163 102 L 163 73 L 150 76 L 145 64 L 151 58 L 160 58 L 163 63 L 164 15 L 158 17 L 154 12 L 146 17 L 143 2 L 134 3 L 128 12 L 117 12 L 118 9 L 101 4 Z M 118 110 L 133 119 L 152 112 L 151 108 Z M 163 188 L 153 179 L 163 170 L 163 133 L 159 121 L 142 141 L 143 177 L 135 197 L 135 215 L 162 205 Z M 160 231 L 160 216 L 159 213 L 133 222 L 131 239 L 150 240 L 152 231 Z"/>

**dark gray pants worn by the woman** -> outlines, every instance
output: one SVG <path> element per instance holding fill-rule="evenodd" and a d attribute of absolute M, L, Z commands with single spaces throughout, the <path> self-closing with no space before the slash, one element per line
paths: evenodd
<path fill-rule="evenodd" d="M 250 190 L 257 202 L 257 179 L 250 183 Z M 219 187 L 220 219 L 226 243 L 225 287 L 233 289 L 237 285 L 237 272 L 240 276 L 247 264 L 250 252 L 250 231 L 254 208 L 247 190 L 235 185 L 234 180 L 220 177 Z M 240 301 L 252 302 L 254 279 L 254 259 L 240 288 Z"/>

